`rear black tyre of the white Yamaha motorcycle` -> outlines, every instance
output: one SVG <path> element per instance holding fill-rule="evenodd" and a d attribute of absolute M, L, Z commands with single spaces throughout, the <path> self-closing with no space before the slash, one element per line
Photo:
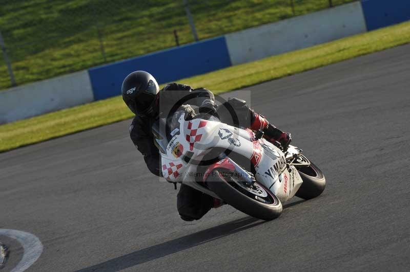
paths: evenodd
<path fill-rule="evenodd" d="M 323 172 L 313 163 L 308 167 L 296 168 L 302 177 L 303 183 L 296 196 L 303 199 L 312 199 L 319 196 L 326 187 L 326 179 Z"/>

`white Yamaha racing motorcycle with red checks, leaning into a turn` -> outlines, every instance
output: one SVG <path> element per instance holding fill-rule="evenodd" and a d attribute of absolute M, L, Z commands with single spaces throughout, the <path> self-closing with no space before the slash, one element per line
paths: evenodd
<path fill-rule="evenodd" d="M 322 171 L 290 145 L 284 151 L 253 132 L 221 123 L 217 117 L 188 118 L 182 111 L 152 126 L 161 154 L 162 176 L 219 198 L 250 216 L 272 220 L 282 202 L 295 195 L 319 196 L 325 188 Z"/>

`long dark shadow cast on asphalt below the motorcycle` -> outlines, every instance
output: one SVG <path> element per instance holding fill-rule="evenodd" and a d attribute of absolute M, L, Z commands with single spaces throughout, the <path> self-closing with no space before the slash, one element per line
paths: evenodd
<path fill-rule="evenodd" d="M 75 272 L 114 272 L 130 268 L 134 265 L 149 262 L 179 251 L 186 250 L 196 245 L 207 243 L 240 231 L 244 231 L 266 221 L 253 217 L 243 217 L 222 225 L 214 226 L 197 233 L 182 236 L 180 238 L 153 245 L 142 250 L 123 255 L 103 263 L 99 263 Z"/>

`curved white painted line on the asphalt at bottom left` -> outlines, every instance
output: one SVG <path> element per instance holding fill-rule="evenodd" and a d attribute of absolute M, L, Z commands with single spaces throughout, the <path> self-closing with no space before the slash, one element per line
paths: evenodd
<path fill-rule="evenodd" d="M 16 239 L 23 245 L 24 254 L 22 260 L 14 267 L 10 272 L 23 272 L 29 268 L 43 252 L 43 244 L 34 235 L 16 231 L 16 230 L 3 230 L 0 229 L 0 235 L 8 236 L 12 239 Z M 10 258 L 10 256 L 9 256 Z"/>

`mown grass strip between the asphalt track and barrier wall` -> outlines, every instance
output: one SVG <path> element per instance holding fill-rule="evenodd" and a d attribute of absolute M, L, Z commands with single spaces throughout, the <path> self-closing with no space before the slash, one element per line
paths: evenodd
<path fill-rule="evenodd" d="M 181 79 L 209 89 L 233 90 L 410 42 L 410 21 L 373 32 Z M 0 126 L 0 151 L 131 118 L 120 96 Z M 127 131 L 124 131 L 127 133 Z"/>

